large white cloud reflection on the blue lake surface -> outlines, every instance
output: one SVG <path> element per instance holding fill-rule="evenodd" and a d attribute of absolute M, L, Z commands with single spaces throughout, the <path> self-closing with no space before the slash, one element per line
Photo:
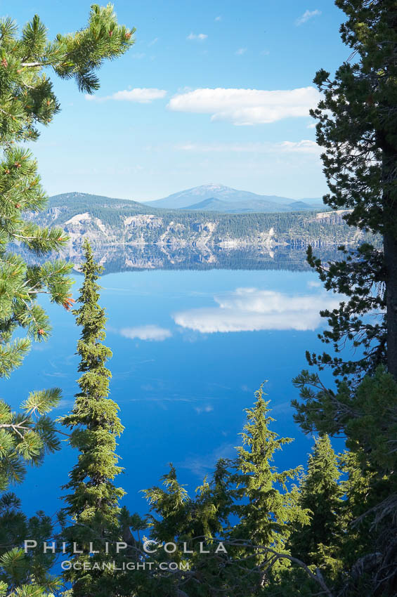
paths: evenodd
<path fill-rule="evenodd" d="M 176 324 L 202 334 L 265 329 L 306 331 L 320 326 L 320 310 L 333 309 L 339 305 L 339 298 L 336 296 L 288 296 L 256 288 L 237 288 L 226 296 L 214 296 L 214 301 L 218 303 L 217 307 L 176 313 Z"/>

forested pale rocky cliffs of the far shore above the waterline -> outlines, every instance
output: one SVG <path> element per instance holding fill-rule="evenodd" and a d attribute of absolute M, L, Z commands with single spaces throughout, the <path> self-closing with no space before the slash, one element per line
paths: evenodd
<path fill-rule="evenodd" d="M 145 209 L 139 204 L 112 200 L 112 204 L 58 204 L 31 216 L 41 225 L 58 225 L 70 241 L 65 256 L 80 253 L 88 238 L 93 247 L 144 247 L 246 249 L 261 247 L 334 247 L 368 240 L 364 232 L 349 228 L 342 211 L 292 214 L 205 214 Z M 127 205 L 126 205 L 127 204 Z M 152 211 L 152 213 L 150 213 Z"/>

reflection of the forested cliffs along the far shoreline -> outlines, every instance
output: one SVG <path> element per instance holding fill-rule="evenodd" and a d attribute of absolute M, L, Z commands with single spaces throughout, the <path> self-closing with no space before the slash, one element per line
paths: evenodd
<path fill-rule="evenodd" d="M 324 261 L 340 257 L 337 249 L 318 249 L 315 254 Z M 143 247 L 97 247 L 95 256 L 105 273 L 132 270 L 310 270 L 306 249 L 259 247 L 225 249 L 221 247 L 191 247 L 170 249 L 157 245 Z M 78 265 L 81 255 L 69 256 Z"/>

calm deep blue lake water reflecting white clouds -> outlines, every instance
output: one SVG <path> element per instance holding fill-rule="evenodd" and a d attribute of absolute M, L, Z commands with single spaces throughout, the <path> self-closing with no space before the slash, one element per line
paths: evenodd
<path fill-rule="evenodd" d="M 240 265 L 241 267 L 241 265 Z M 80 275 L 74 276 L 77 297 Z M 312 440 L 294 424 L 291 380 L 306 367 L 317 339 L 320 308 L 337 300 L 311 271 L 147 270 L 103 275 L 101 304 L 108 313 L 106 344 L 113 351 L 111 397 L 125 426 L 118 452 L 126 471 L 117 483 L 131 511 L 148 511 L 140 490 L 159 482 L 172 462 L 193 494 L 216 459 L 234 457 L 244 409 L 264 380 L 273 429 L 295 438 L 276 457 L 281 468 L 306 463 Z M 53 335 L 34 346 L 1 395 L 15 409 L 29 391 L 59 386 L 72 407 L 77 392 L 79 329 L 63 308 L 48 306 Z M 325 379 L 330 376 L 325 376 Z M 32 469 L 15 492 L 27 513 L 50 514 L 62 505 L 77 453 L 63 450 Z"/>

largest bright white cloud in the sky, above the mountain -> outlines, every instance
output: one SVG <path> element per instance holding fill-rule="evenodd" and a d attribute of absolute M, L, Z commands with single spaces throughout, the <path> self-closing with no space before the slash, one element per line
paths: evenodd
<path fill-rule="evenodd" d="M 314 87 L 282 91 L 262 89 L 199 88 L 177 93 L 167 107 L 174 112 L 211 114 L 212 121 L 237 125 L 268 124 L 290 117 L 308 117 L 320 100 Z"/>

